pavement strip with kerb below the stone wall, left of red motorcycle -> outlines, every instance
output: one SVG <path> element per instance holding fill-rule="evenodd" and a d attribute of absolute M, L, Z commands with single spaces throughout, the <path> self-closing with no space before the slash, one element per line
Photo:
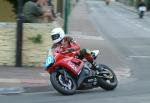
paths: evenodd
<path fill-rule="evenodd" d="M 53 90 L 44 68 L 0 66 L 0 94 Z"/>

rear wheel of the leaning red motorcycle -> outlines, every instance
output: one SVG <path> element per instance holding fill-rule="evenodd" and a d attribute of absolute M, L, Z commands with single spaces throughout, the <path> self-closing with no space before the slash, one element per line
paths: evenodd
<path fill-rule="evenodd" d="M 113 90 L 117 87 L 118 80 L 115 73 L 106 65 L 100 65 L 98 78 L 99 86 L 105 90 Z"/>

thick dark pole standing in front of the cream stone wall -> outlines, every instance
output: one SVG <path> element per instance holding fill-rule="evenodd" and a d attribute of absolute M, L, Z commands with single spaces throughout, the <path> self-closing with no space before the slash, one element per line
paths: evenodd
<path fill-rule="evenodd" d="M 17 0 L 16 67 L 22 66 L 23 0 Z"/>

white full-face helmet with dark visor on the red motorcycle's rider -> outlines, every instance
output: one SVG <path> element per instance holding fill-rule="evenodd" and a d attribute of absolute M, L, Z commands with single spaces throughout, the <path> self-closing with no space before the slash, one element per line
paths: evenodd
<path fill-rule="evenodd" d="M 51 31 L 51 38 L 53 43 L 60 42 L 62 39 L 64 39 L 64 37 L 65 37 L 65 33 L 62 28 L 55 28 Z"/>

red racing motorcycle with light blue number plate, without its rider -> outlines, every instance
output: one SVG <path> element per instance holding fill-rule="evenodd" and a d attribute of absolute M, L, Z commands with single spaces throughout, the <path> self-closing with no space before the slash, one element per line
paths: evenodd
<path fill-rule="evenodd" d="M 99 50 L 91 51 L 96 60 Z M 94 60 L 94 61 L 95 61 Z M 101 87 L 113 90 L 118 81 L 115 73 L 108 66 L 90 63 L 80 59 L 77 51 L 70 53 L 51 52 L 46 61 L 45 69 L 50 74 L 53 87 L 63 95 L 72 95 L 76 90 Z"/>

